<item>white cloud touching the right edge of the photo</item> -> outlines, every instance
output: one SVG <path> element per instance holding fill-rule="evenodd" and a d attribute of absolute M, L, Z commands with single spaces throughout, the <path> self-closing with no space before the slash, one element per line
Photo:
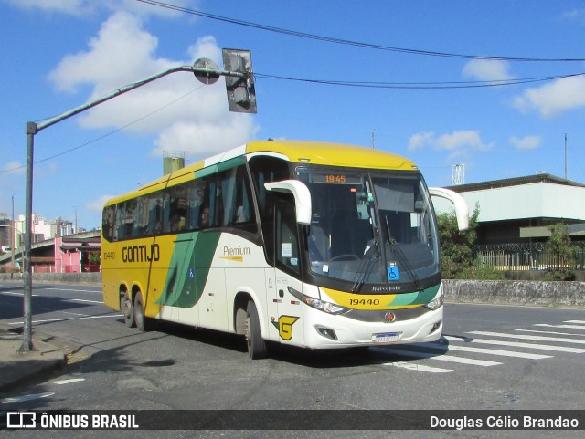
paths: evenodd
<path fill-rule="evenodd" d="M 585 107 L 585 76 L 560 78 L 542 87 L 527 89 L 513 104 L 521 111 L 536 110 L 543 118 Z"/>

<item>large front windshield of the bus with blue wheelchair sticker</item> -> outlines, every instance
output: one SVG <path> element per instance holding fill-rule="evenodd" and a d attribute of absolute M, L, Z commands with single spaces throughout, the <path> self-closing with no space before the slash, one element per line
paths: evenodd
<path fill-rule="evenodd" d="M 436 222 L 419 172 L 302 167 L 297 178 L 312 195 L 306 239 L 315 275 L 354 282 L 358 292 L 364 284 L 420 290 L 438 274 Z"/>

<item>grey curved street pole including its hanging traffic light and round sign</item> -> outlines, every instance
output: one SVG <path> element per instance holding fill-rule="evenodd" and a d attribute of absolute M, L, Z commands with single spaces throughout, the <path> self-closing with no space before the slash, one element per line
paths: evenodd
<path fill-rule="evenodd" d="M 81 105 L 73 110 L 69 110 L 52 119 L 41 123 L 27 122 L 27 181 L 25 197 L 25 253 L 23 256 L 24 263 L 24 328 L 22 345 L 18 349 L 21 352 L 34 350 L 32 342 L 32 267 L 31 246 L 32 246 L 32 215 L 33 215 L 33 163 L 35 151 L 35 135 L 38 131 L 44 130 L 56 123 L 69 119 L 82 111 L 100 105 L 101 103 L 116 98 L 127 91 L 137 89 L 156 79 L 163 78 L 171 73 L 179 71 L 191 72 L 195 77 L 204 84 L 215 83 L 220 76 L 226 77 L 226 89 L 228 91 L 228 103 L 230 111 L 240 111 L 255 113 L 256 112 L 256 92 L 254 89 L 254 77 L 252 72 L 252 61 L 250 51 L 238 49 L 223 49 L 224 68 L 228 70 L 218 70 L 218 66 L 210 59 L 201 58 L 193 66 L 180 66 L 169 68 L 161 73 L 144 78 L 141 81 L 126 85 L 102 97 L 93 100 L 87 104 Z M 229 69 L 233 68 L 233 71 Z"/>

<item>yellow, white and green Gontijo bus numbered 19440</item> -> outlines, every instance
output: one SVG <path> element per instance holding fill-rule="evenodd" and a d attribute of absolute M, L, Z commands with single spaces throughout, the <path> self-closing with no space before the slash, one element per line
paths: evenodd
<path fill-rule="evenodd" d="M 253 141 L 105 204 L 104 303 L 331 349 L 438 340 L 443 293 L 431 194 L 408 159 L 345 144 Z"/>

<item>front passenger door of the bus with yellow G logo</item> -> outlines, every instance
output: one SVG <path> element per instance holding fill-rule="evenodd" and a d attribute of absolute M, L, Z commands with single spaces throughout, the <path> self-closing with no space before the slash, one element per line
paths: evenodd
<path fill-rule="evenodd" d="M 288 288 L 303 290 L 299 235 L 294 213 L 294 203 L 279 201 L 274 205 L 274 277 L 269 280 L 268 302 L 272 306 L 271 326 L 278 330 L 282 343 L 303 345 L 303 306 Z M 270 288 L 270 281 L 273 287 Z M 270 298 L 270 295 L 272 297 Z M 275 313 L 275 315 L 274 315 Z M 271 328 L 271 332 L 272 332 Z"/>

